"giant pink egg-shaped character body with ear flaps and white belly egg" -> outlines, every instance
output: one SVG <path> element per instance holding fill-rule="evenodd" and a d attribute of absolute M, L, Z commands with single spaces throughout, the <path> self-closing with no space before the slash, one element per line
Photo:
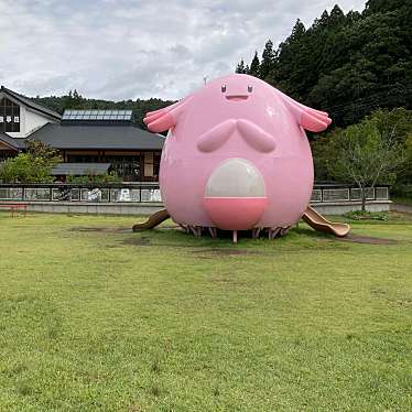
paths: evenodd
<path fill-rule="evenodd" d="M 172 218 L 230 230 L 301 218 L 313 187 L 304 129 L 330 123 L 327 113 L 248 75 L 213 80 L 144 121 L 155 132 L 170 129 L 160 187 Z"/>

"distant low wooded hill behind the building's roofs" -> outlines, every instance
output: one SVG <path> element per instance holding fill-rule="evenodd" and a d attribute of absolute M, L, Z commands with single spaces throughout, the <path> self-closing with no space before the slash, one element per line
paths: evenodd
<path fill-rule="evenodd" d="M 131 109 L 135 123 L 142 129 L 145 129 L 143 117 L 148 111 L 158 110 L 173 102 L 154 98 L 123 101 L 87 99 L 82 97 L 77 90 L 71 90 L 67 96 L 35 97 L 32 100 L 58 113 L 63 113 L 64 109 Z"/>

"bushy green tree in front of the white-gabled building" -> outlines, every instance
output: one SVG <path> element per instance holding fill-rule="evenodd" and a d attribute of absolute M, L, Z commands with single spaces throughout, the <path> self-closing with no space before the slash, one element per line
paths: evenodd
<path fill-rule="evenodd" d="M 53 166 L 61 161 L 56 150 L 39 141 L 29 141 L 26 153 L 8 159 L 0 165 L 3 183 L 51 183 Z"/>

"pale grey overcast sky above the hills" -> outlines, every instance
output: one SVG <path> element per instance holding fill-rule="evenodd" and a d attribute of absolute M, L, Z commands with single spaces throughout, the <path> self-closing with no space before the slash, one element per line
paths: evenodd
<path fill-rule="evenodd" d="M 296 19 L 365 0 L 0 0 L 0 84 L 28 96 L 177 99 Z"/>

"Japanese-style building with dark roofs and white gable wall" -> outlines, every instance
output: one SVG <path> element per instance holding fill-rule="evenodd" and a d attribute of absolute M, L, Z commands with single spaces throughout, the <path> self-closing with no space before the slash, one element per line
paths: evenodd
<path fill-rule="evenodd" d="M 126 182 L 155 182 L 164 137 L 138 128 L 132 118 L 131 110 L 65 110 L 61 116 L 1 86 L 0 161 L 24 151 L 28 140 L 39 140 L 61 152 L 65 164 L 58 173 L 113 170 Z"/>

